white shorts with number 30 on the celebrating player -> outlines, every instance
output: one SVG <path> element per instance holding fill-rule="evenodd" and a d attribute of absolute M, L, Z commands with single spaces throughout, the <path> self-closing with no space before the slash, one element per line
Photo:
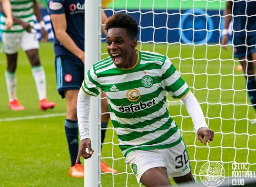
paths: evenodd
<path fill-rule="evenodd" d="M 183 140 L 168 149 L 131 151 L 125 163 L 130 165 L 138 183 L 143 173 L 150 168 L 166 167 L 169 178 L 184 176 L 190 171 L 187 148 Z"/>

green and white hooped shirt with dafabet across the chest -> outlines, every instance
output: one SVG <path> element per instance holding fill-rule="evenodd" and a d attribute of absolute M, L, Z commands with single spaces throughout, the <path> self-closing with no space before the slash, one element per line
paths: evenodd
<path fill-rule="evenodd" d="M 181 98 L 189 88 L 166 56 L 138 50 L 138 62 L 130 69 L 117 68 L 109 56 L 88 71 L 82 90 L 92 96 L 107 94 L 125 157 L 132 150 L 165 149 L 181 142 L 166 107 L 167 92 Z"/>

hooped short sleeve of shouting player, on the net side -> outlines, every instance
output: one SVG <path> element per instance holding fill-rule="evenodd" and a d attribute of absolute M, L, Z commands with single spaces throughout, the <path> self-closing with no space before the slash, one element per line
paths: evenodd
<path fill-rule="evenodd" d="M 162 65 L 162 73 L 162 87 L 174 99 L 180 99 L 189 92 L 187 83 L 181 78 L 168 58 L 166 58 L 165 63 Z"/>

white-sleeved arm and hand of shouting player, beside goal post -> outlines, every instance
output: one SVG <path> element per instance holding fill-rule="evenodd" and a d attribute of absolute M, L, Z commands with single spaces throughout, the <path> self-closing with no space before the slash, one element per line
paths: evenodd
<path fill-rule="evenodd" d="M 80 157 L 84 159 L 91 158 L 94 150 L 91 148 L 91 140 L 89 139 L 89 112 L 90 112 L 90 96 L 85 94 L 80 88 L 77 101 L 77 116 L 80 133 L 80 146 L 76 163 Z M 86 151 L 88 149 L 88 152 Z"/>

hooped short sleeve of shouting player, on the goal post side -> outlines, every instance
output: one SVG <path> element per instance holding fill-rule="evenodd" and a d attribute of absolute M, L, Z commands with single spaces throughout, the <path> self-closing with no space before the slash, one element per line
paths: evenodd
<path fill-rule="evenodd" d="M 82 84 L 82 90 L 85 94 L 91 95 L 91 96 L 98 96 L 98 94 L 101 91 L 100 84 L 97 82 L 98 77 L 94 74 L 93 67 L 88 71 L 83 84 Z"/>

